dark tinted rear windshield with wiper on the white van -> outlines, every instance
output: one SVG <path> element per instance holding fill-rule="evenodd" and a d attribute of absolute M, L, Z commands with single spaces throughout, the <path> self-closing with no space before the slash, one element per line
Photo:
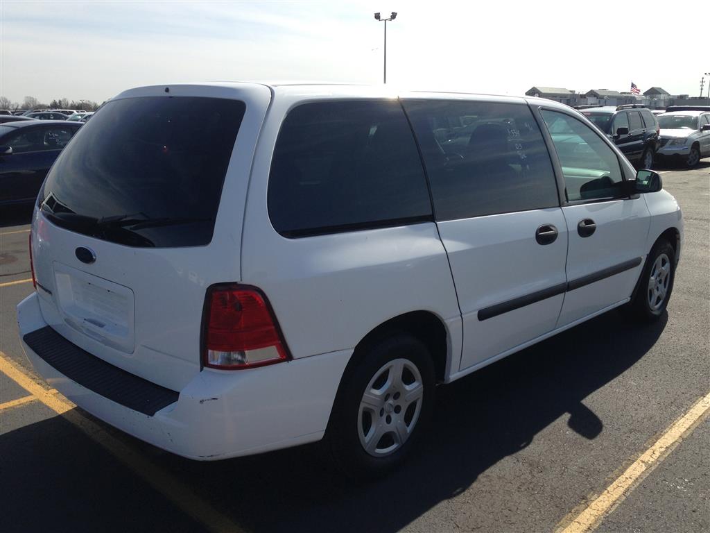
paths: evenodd
<path fill-rule="evenodd" d="M 208 244 L 245 109 L 197 97 L 109 102 L 60 154 L 41 208 L 57 225 L 129 246 Z"/>

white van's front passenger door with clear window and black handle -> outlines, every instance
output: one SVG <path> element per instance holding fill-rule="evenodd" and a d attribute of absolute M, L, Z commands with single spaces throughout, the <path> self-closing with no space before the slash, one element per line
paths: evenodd
<path fill-rule="evenodd" d="M 542 109 L 564 176 L 562 205 L 569 235 L 567 294 L 557 327 L 603 311 L 633 292 L 643 261 L 650 215 L 629 196 L 616 153 L 570 114 Z"/>

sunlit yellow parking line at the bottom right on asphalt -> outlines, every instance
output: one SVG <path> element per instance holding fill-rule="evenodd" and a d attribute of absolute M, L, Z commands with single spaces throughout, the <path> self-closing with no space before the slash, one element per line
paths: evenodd
<path fill-rule="evenodd" d="M 558 524 L 559 533 L 584 533 L 596 529 L 604 516 L 613 511 L 618 504 L 638 484 L 650 474 L 662 461 L 678 446 L 678 444 L 692 433 L 692 431 L 707 416 L 710 415 L 710 393 L 698 400 L 693 407 L 678 419 L 662 436 L 655 441 L 641 456 L 630 465 L 599 497 L 579 512 L 577 516 L 569 519 L 566 517 Z M 567 524 L 564 526 L 563 524 Z M 564 529 L 562 529 L 564 527 Z"/>

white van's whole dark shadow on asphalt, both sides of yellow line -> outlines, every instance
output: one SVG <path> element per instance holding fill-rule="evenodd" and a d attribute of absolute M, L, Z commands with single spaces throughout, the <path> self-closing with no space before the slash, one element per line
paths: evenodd
<path fill-rule="evenodd" d="M 572 431 L 596 438 L 603 420 L 582 402 L 643 357 L 666 323 L 664 314 L 652 325 L 629 325 L 613 311 L 439 387 L 421 446 L 397 473 L 371 483 L 340 475 L 320 443 L 199 463 L 120 438 L 247 531 L 393 533 L 464 492 L 561 416 L 569 414 Z M 202 530 L 59 416 L 1 435 L 0 474 L 7 531 Z"/>

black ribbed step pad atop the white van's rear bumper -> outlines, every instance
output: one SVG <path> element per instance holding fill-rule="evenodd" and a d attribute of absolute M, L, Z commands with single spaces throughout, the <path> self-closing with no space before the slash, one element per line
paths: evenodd
<path fill-rule="evenodd" d="M 178 392 L 94 357 L 50 326 L 28 333 L 23 339 L 55 370 L 124 407 L 153 416 L 163 407 L 178 401 Z"/>

